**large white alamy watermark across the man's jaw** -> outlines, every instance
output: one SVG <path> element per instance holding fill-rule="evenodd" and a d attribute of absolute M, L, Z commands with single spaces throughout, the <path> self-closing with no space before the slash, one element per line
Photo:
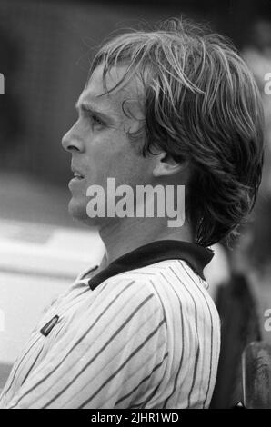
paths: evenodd
<path fill-rule="evenodd" d="M 115 178 L 107 178 L 106 185 L 106 196 L 105 189 L 98 184 L 90 185 L 86 191 L 91 197 L 86 205 L 90 218 L 167 217 L 168 227 L 181 227 L 185 222 L 185 185 L 146 184 L 134 189 L 125 184 L 115 187 Z"/>

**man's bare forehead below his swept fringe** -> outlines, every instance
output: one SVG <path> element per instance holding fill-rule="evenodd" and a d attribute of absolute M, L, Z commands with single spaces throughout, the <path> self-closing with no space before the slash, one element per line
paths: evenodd
<path fill-rule="evenodd" d="M 110 94 L 105 94 L 103 84 L 104 65 L 98 65 L 89 81 L 87 82 L 84 91 L 78 99 L 78 104 L 91 103 L 97 107 L 103 108 L 105 112 L 121 113 L 123 102 L 130 101 L 132 104 L 139 105 L 143 94 L 143 85 L 137 77 L 132 77 L 128 82 L 121 84 Z M 126 71 L 126 66 L 114 66 L 106 74 L 106 87 L 108 91 L 115 87 Z"/>

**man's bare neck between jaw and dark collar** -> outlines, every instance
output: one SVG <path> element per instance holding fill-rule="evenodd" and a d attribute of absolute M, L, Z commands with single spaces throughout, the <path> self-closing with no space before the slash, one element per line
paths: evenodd
<path fill-rule="evenodd" d="M 100 236 L 105 243 L 106 253 L 100 265 L 105 268 L 115 259 L 136 248 L 158 240 L 192 242 L 188 223 L 182 227 L 168 227 L 165 218 L 125 218 L 101 227 Z"/>

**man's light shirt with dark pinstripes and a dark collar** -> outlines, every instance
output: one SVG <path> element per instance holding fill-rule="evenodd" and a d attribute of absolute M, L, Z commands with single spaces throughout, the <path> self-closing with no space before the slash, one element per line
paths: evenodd
<path fill-rule="evenodd" d="M 30 336 L 0 407 L 207 408 L 219 317 L 204 265 L 183 248 L 196 245 L 177 244 L 150 243 L 79 276 Z"/>

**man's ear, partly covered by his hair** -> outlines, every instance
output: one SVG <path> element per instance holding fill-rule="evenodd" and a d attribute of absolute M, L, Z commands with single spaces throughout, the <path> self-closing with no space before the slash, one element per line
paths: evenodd
<path fill-rule="evenodd" d="M 185 172 L 187 166 L 188 160 L 176 162 L 169 154 L 161 152 L 156 155 L 156 165 L 153 170 L 153 175 L 159 177 L 179 174 Z"/>

